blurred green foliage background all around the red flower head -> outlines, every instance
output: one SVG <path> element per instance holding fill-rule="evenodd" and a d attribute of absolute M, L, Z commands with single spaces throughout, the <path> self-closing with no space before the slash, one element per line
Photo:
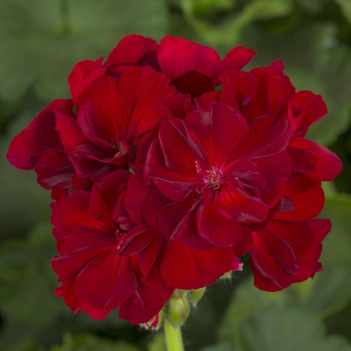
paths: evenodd
<path fill-rule="evenodd" d="M 189 351 L 351 350 L 351 0 L 0 0 L 0 349 L 159 351 L 161 334 L 112 313 L 94 321 L 54 295 L 50 194 L 34 172 L 11 167 L 12 138 L 54 98 L 83 59 L 107 57 L 124 35 L 183 36 L 223 56 L 282 59 L 297 89 L 322 94 L 329 113 L 309 137 L 343 171 L 325 186 L 324 272 L 283 292 L 253 287 L 249 267 L 210 287 L 185 326 Z"/>

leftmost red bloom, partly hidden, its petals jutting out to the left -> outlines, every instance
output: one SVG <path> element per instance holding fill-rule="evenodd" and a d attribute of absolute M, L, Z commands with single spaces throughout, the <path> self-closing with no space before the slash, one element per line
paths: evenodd
<path fill-rule="evenodd" d="M 90 180 L 80 180 L 64 152 L 56 131 L 57 115 L 74 121 L 72 100 L 54 100 L 11 142 L 6 158 L 20 169 L 34 169 L 38 183 L 53 190 L 53 197 L 68 194 L 73 189 L 86 189 Z"/>

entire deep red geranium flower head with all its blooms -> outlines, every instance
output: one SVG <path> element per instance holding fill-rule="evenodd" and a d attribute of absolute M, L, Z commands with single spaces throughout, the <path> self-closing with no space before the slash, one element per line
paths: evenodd
<path fill-rule="evenodd" d="M 243 71 L 254 55 L 127 36 L 12 141 L 8 160 L 52 191 L 56 294 L 73 311 L 147 322 L 245 254 L 262 290 L 321 270 L 321 182 L 341 162 L 305 134 L 327 109 L 279 60 Z"/>

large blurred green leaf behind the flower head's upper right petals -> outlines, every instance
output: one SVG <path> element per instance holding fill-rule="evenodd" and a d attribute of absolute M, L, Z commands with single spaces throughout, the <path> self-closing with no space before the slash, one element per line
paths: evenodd
<path fill-rule="evenodd" d="M 325 145 L 330 145 L 350 121 L 350 52 L 345 44 L 335 41 L 335 35 L 334 24 L 312 24 L 284 37 L 249 28 L 240 41 L 258 51 L 255 64 L 266 66 L 280 58 L 297 90 L 312 90 L 323 96 L 328 115 L 310 128 L 308 136 Z"/>

